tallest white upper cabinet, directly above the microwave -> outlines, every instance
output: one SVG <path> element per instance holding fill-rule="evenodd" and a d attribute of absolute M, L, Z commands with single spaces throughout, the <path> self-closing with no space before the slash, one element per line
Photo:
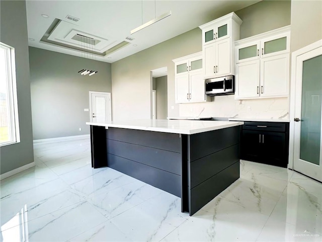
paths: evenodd
<path fill-rule="evenodd" d="M 199 26 L 202 30 L 204 79 L 234 75 L 233 43 L 239 39 L 241 23 L 235 13 L 230 13 Z"/>

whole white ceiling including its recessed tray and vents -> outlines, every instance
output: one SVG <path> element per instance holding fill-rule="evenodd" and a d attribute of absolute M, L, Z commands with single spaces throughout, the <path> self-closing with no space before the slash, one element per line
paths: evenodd
<path fill-rule="evenodd" d="M 113 63 L 257 2 L 27 0 L 29 46 Z M 169 11 L 170 17 L 130 34 Z"/>

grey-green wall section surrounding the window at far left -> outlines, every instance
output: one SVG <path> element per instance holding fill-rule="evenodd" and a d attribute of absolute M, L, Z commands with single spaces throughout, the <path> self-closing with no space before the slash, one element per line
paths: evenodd
<path fill-rule="evenodd" d="M 34 161 L 25 1 L 0 1 L 0 41 L 15 48 L 20 143 L 0 148 L 0 173 Z"/>

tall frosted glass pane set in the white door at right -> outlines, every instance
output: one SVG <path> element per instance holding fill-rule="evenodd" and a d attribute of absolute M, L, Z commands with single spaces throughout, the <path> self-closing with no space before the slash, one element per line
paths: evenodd
<path fill-rule="evenodd" d="M 319 165 L 322 107 L 322 55 L 303 62 L 300 159 Z"/>

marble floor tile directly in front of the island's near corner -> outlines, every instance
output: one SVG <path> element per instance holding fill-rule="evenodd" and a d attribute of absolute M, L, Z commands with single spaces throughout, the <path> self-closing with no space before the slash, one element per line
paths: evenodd
<path fill-rule="evenodd" d="M 255 241 L 267 219 L 217 197 L 162 241 Z"/>

